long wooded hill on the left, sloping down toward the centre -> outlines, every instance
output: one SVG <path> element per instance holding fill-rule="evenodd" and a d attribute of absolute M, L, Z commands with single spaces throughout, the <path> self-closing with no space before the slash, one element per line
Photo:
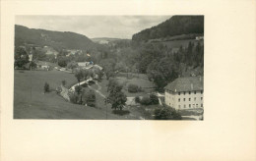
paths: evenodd
<path fill-rule="evenodd" d="M 56 50 L 80 49 L 94 50 L 99 44 L 94 43 L 87 36 L 70 31 L 51 31 L 23 26 L 15 26 L 15 46 L 34 44 L 51 46 Z"/>

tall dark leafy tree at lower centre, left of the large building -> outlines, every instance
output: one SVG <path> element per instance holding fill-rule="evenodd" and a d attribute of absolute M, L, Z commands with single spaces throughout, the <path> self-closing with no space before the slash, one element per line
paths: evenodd
<path fill-rule="evenodd" d="M 127 100 L 126 95 L 121 91 L 122 85 L 120 85 L 116 80 L 110 80 L 108 84 L 109 94 L 107 100 L 112 105 L 112 109 L 119 109 L 122 111 L 125 102 Z"/>

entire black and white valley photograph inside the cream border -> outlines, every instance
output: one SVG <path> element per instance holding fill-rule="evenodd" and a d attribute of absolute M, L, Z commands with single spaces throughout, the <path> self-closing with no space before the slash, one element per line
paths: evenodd
<path fill-rule="evenodd" d="M 204 16 L 16 16 L 14 119 L 204 120 Z"/>

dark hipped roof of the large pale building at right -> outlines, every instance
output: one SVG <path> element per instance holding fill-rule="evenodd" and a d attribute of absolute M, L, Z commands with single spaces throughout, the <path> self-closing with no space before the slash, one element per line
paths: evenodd
<path fill-rule="evenodd" d="M 174 92 L 204 90 L 204 78 L 203 77 L 178 78 L 168 83 L 164 87 L 164 89 L 168 89 Z"/>

